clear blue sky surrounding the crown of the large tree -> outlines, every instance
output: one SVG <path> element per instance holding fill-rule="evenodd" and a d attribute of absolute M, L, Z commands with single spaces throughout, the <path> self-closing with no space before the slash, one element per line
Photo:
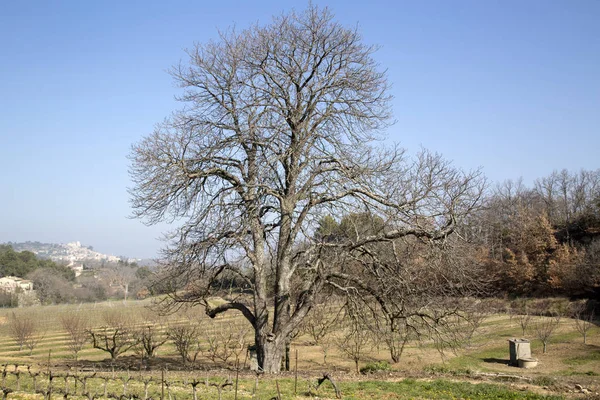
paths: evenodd
<path fill-rule="evenodd" d="M 600 1 L 314 1 L 379 44 L 390 141 L 493 182 L 600 168 Z M 128 219 L 126 158 L 181 105 L 184 49 L 291 1 L 0 2 L 0 242 L 154 257 L 165 226 Z"/>

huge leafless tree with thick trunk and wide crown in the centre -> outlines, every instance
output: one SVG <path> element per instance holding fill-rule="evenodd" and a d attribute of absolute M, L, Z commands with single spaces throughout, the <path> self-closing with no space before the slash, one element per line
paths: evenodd
<path fill-rule="evenodd" d="M 443 239 L 478 204 L 478 172 L 377 143 L 391 112 L 375 50 L 316 6 L 221 33 L 172 69 L 185 106 L 132 149 L 134 215 L 178 225 L 162 275 L 172 299 L 241 312 L 266 372 L 316 294 L 348 282 L 343 254 Z M 314 234 L 323 215 L 364 212 L 387 228 Z M 242 294 L 209 301 L 232 281 Z"/>

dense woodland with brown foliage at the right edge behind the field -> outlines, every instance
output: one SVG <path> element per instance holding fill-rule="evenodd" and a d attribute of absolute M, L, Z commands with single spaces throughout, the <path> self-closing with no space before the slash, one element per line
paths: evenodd
<path fill-rule="evenodd" d="M 465 227 L 503 293 L 595 297 L 600 287 L 600 170 L 507 181 Z"/>

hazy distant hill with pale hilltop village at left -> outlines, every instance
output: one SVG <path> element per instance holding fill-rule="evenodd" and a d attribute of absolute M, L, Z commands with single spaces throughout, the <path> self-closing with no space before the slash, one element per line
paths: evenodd
<path fill-rule="evenodd" d="M 107 262 L 107 263 L 118 263 L 122 262 L 138 262 L 139 259 L 117 257 L 109 254 L 102 254 L 94 251 L 92 246 L 82 246 L 80 242 L 70 243 L 40 243 L 40 242 L 8 242 L 5 243 L 19 252 L 19 251 L 30 251 L 40 258 L 47 258 L 57 262 L 85 262 L 85 261 L 96 261 L 96 262 Z"/>

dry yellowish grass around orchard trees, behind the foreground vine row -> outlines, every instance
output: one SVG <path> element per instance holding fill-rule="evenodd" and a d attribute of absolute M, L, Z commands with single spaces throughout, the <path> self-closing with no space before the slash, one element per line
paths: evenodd
<path fill-rule="evenodd" d="M 60 324 L 60 315 L 72 312 L 85 312 L 90 317 L 92 325 L 102 325 L 102 316 L 107 310 L 118 310 L 132 322 L 138 325 L 146 323 L 148 317 L 148 301 L 129 301 L 99 303 L 89 305 L 63 305 L 32 307 L 29 309 L 0 310 L 0 363 L 2 364 L 27 364 L 47 365 L 48 353 L 51 351 L 52 364 L 69 363 L 72 353 L 66 346 L 66 332 Z M 12 311 L 34 318 L 42 327 L 44 337 L 31 356 L 28 350 L 19 351 L 14 340 L 8 334 L 8 316 Z M 146 317 L 146 318 L 145 318 Z M 534 317 L 535 319 L 535 317 Z M 179 312 L 175 315 L 160 319 L 162 329 L 167 329 L 169 324 L 189 323 L 201 321 L 202 327 L 207 330 L 219 329 L 223 324 L 239 322 L 242 318 L 235 313 L 220 316 L 215 320 L 207 318 L 201 309 Z M 593 390 L 600 391 L 597 381 L 600 381 L 600 335 L 598 327 L 594 327 L 588 336 L 588 344 L 583 344 L 582 336 L 576 331 L 574 321 L 563 318 L 554 336 L 550 339 L 548 352 L 542 354 L 542 344 L 531 331 L 527 336 L 531 339 L 533 357 L 538 358 L 539 365 L 535 369 L 523 370 L 508 365 L 509 351 L 508 339 L 521 337 L 521 328 L 516 318 L 508 315 L 497 314 L 487 318 L 475 333 L 469 347 L 463 347 L 456 352 L 440 354 L 431 343 L 411 342 L 399 363 L 393 364 L 393 372 L 386 375 L 386 379 L 397 379 L 401 376 L 423 377 L 424 375 L 459 377 L 460 379 L 478 379 L 478 374 L 505 374 L 519 375 L 530 379 L 540 386 L 556 386 L 557 390 L 566 390 L 574 383 L 582 383 Z M 249 333 L 248 341 L 252 334 Z M 354 376 L 354 365 L 351 360 L 344 358 L 332 346 L 327 357 L 328 363 L 323 363 L 323 352 L 319 346 L 311 344 L 308 336 L 299 336 L 292 343 L 292 366 L 294 356 L 298 351 L 298 369 L 306 374 L 316 375 L 321 372 L 334 372 L 340 377 Z M 175 348 L 170 344 L 161 347 L 158 352 L 159 359 L 155 365 L 168 363 L 171 368 L 179 363 Z M 108 354 L 91 348 L 86 344 L 79 354 L 83 364 L 93 364 L 106 360 Z M 372 348 L 368 356 L 361 362 L 389 360 L 387 351 L 383 348 Z M 129 365 L 138 365 L 139 356 L 129 351 L 123 357 L 123 362 Z M 71 362 L 72 363 L 72 362 Z M 230 362 L 232 365 L 233 360 Z M 215 367 L 205 354 L 201 355 L 199 364 Z M 221 363 L 217 366 L 224 366 Z M 343 378 L 342 378 L 343 379 Z M 560 389 L 562 387 L 562 389 Z"/>

